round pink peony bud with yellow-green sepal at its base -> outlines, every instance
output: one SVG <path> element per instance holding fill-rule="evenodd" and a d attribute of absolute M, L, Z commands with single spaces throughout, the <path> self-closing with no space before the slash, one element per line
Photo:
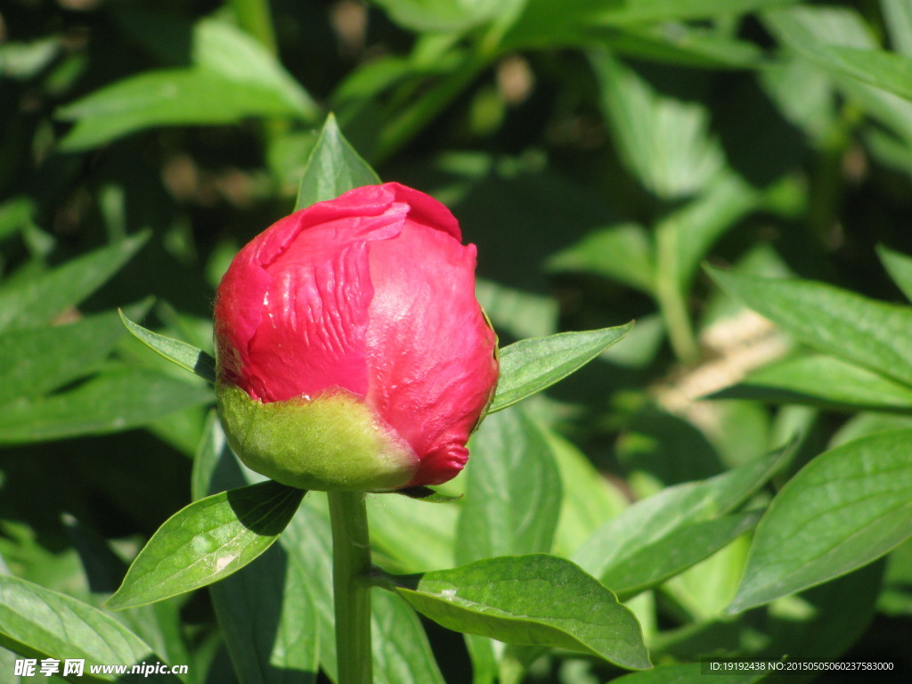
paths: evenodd
<path fill-rule="evenodd" d="M 233 450 L 303 489 L 450 480 L 497 383 L 474 271 L 451 212 L 399 183 L 257 235 L 215 297 L 216 395 Z"/>

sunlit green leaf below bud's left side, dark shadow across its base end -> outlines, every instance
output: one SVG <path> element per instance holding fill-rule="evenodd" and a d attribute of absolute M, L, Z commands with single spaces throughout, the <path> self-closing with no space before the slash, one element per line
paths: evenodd
<path fill-rule="evenodd" d="M 152 535 L 108 606 L 144 606 L 232 575 L 275 542 L 304 494 L 268 481 L 185 506 Z"/>

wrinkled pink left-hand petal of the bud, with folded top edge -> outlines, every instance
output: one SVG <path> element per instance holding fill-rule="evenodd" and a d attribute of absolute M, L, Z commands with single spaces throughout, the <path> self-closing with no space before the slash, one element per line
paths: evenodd
<path fill-rule="evenodd" d="M 394 200 L 384 186 L 348 192 L 244 247 L 216 301 L 216 320 L 232 321 L 216 339 L 234 384 L 267 402 L 367 393 L 368 245 L 401 231 L 409 208 Z"/>

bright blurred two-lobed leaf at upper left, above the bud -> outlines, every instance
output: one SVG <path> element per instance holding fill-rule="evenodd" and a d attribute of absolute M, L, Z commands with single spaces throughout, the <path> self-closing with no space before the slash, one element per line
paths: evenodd
<path fill-rule="evenodd" d="M 59 118 L 77 121 L 61 148 L 85 150 L 155 126 L 316 118 L 316 105 L 295 79 L 240 29 L 205 19 L 193 43 L 192 67 L 140 73 L 59 109 Z"/>

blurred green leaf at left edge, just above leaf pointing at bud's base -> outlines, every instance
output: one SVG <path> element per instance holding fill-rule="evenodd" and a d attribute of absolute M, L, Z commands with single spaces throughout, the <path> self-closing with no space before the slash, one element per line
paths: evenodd
<path fill-rule="evenodd" d="M 142 313 L 148 305 L 142 306 Z M 94 372 L 127 331 L 116 312 L 0 335 L 0 404 L 34 399 Z"/>

